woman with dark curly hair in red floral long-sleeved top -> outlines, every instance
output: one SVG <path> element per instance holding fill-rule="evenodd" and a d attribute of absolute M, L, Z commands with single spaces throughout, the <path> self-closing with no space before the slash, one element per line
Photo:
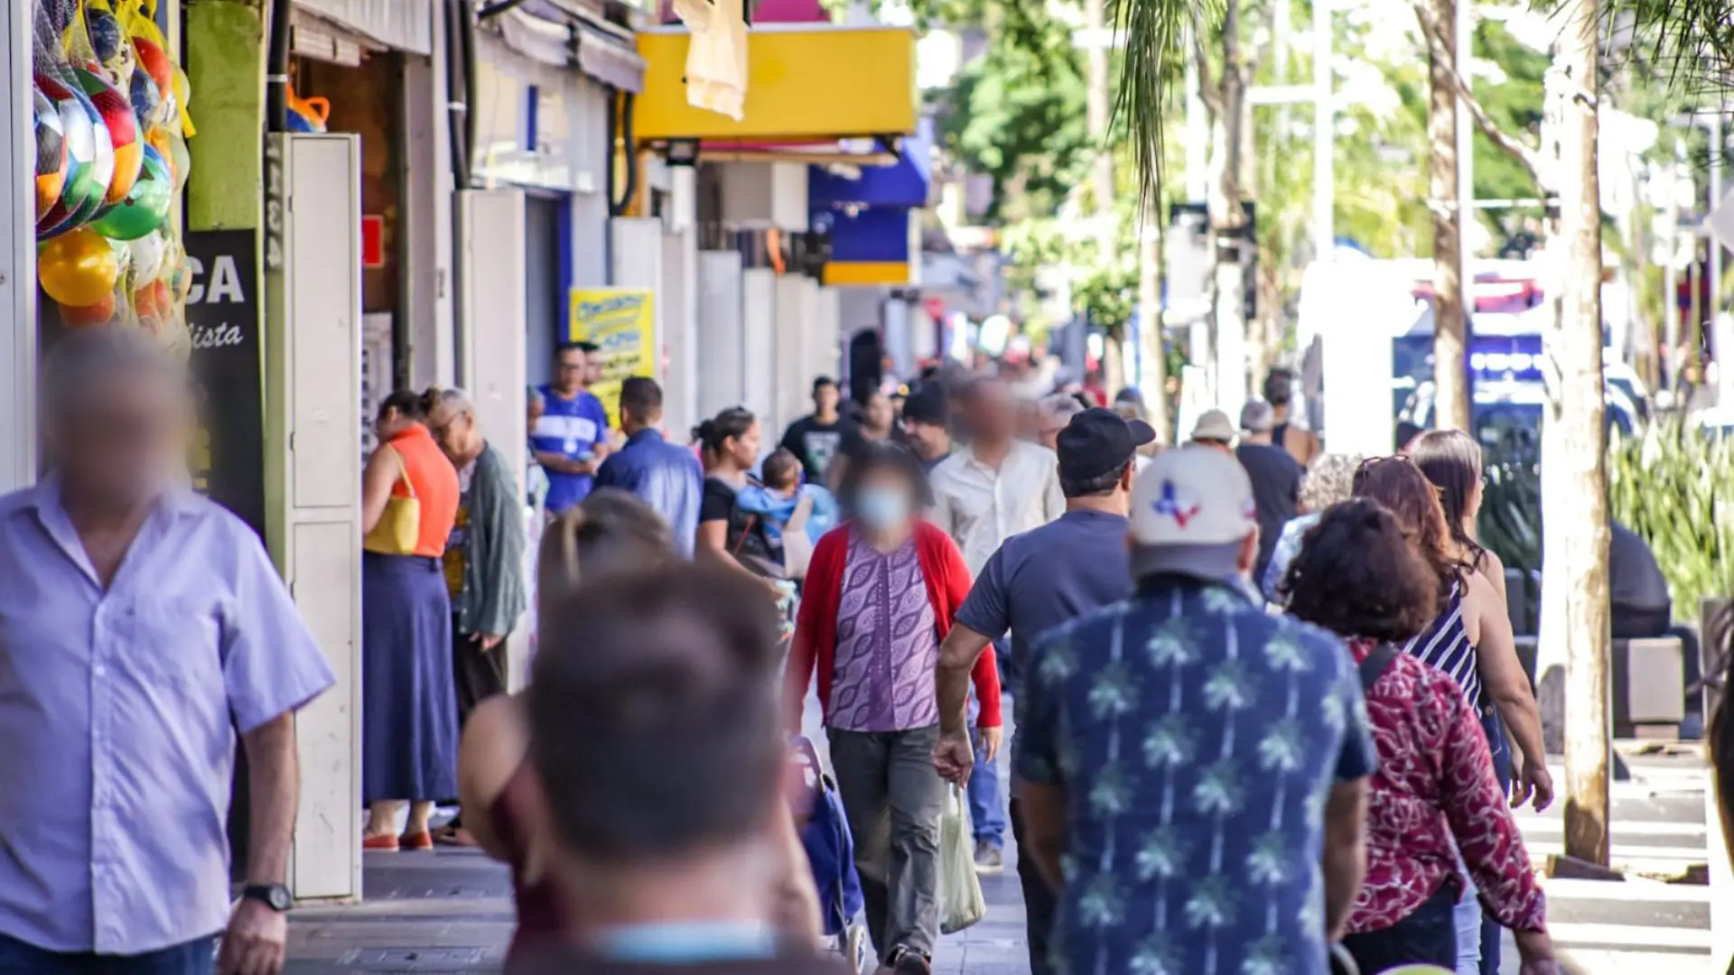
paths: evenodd
<path fill-rule="evenodd" d="M 1325 512 L 1290 564 L 1288 611 L 1335 631 L 1358 661 L 1434 618 L 1434 576 L 1379 503 Z M 1510 928 L 1522 975 L 1555 975 L 1547 906 L 1488 756 L 1481 720 L 1443 671 L 1405 652 L 1366 690 L 1379 746 L 1366 808 L 1366 881 L 1344 946 L 1365 975 L 1457 965 L 1458 852 L 1488 916 Z M 1363 671 L 1365 677 L 1365 671 Z"/>

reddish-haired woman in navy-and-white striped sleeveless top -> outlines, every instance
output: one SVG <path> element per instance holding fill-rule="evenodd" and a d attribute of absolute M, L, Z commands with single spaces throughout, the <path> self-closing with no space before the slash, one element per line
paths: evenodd
<path fill-rule="evenodd" d="M 1488 579 L 1472 553 L 1460 552 L 1446 524 L 1439 489 L 1410 458 L 1372 458 L 1354 474 L 1354 494 L 1372 498 L 1396 514 L 1410 543 L 1439 579 L 1439 605 L 1432 625 L 1408 644 L 1408 652 L 1446 675 L 1481 713 L 1493 769 L 1510 791 L 1512 807 L 1554 802 L 1542 748 L 1542 713 L 1529 677 L 1517 661 L 1505 597 Z M 1516 775 L 1505 729 L 1521 751 Z M 1477 932 L 1483 935 L 1474 937 Z M 1498 975 L 1498 928 L 1486 930 L 1474 899 L 1458 904 L 1458 975 Z"/>

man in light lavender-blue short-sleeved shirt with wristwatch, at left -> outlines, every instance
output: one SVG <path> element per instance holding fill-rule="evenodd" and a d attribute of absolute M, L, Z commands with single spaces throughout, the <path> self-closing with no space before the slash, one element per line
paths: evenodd
<path fill-rule="evenodd" d="M 274 973 L 291 713 L 331 668 L 258 536 L 186 488 L 186 380 L 147 333 L 68 333 L 42 389 L 54 472 L 0 498 L 0 972 L 206 975 L 222 935 L 222 972 Z"/>

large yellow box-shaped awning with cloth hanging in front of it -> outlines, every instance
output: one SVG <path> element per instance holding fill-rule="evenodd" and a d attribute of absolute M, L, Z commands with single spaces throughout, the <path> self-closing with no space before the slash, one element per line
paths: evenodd
<path fill-rule="evenodd" d="M 916 132 L 916 35 L 909 28 L 754 26 L 740 121 L 687 104 L 688 42 L 683 28 L 638 33 L 645 88 L 635 101 L 633 137 L 640 142 L 817 142 Z"/>

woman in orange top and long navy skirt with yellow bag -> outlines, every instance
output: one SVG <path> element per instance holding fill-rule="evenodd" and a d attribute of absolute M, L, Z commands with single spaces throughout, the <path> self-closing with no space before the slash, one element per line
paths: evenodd
<path fill-rule="evenodd" d="M 427 427 L 428 394 L 380 404 L 380 448 L 361 488 L 361 793 L 368 850 L 434 847 L 434 802 L 458 795 L 451 599 L 440 557 L 458 517 L 458 472 Z M 409 822 L 397 812 L 409 800 Z"/>

